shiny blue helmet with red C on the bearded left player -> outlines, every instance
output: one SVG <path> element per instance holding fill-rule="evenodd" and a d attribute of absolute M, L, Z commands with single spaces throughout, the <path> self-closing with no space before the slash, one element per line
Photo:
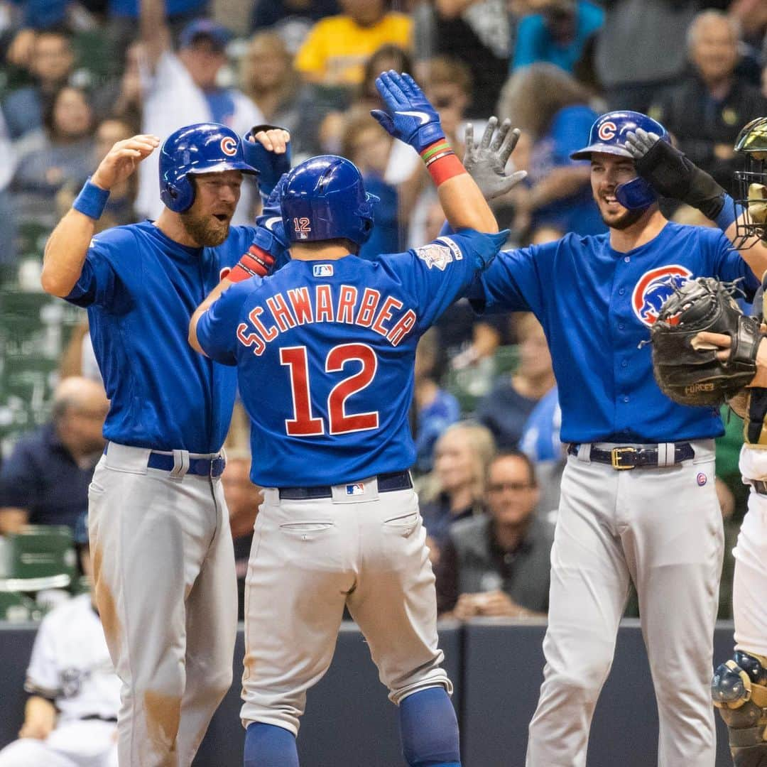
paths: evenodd
<path fill-rule="evenodd" d="M 196 123 L 179 128 L 160 147 L 160 199 L 173 212 L 183 213 L 194 202 L 194 173 L 240 170 L 258 175 L 245 162 L 242 140 L 219 123 Z"/>

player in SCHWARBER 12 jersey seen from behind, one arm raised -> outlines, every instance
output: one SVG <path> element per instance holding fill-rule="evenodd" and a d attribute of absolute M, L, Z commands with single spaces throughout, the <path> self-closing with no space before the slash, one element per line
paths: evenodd
<path fill-rule="evenodd" d="M 413 79 L 390 71 L 377 87 L 387 110 L 372 114 L 423 157 L 458 233 L 356 258 L 376 198 L 348 160 L 311 158 L 278 187 L 291 262 L 211 307 L 214 291 L 190 328 L 237 366 L 251 479 L 265 488 L 245 587 L 246 767 L 298 767 L 306 691 L 331 663 L 344 605 L 399 706 L 408 764 L 460 761 L 407 413 L 418 338 L 506 233 L 479 233 L 497 232 L 495 219 Z"/>

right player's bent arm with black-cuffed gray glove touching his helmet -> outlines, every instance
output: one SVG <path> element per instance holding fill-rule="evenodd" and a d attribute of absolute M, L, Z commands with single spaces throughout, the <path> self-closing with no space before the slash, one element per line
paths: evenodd
<path fill-rule="evenodd" d="M 650 182 L 663 197 L 678 199 L 700 210 L 719 226 L 733 245 L 739 245 L 741 258 L 761 280 L 767 271 L 767 245 L 756 239 L 737 241 L 736 219 L 742 211 L 736 209 L 732 197 L 722 186 L 683 152 L 661 140 L 657 133 L 641 128 L 626 134 L 626 148 L 637 164 L 637 173 Z"/>

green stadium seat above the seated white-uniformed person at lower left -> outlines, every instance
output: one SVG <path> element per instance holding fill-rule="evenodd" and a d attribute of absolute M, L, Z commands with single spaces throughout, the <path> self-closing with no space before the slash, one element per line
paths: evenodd
<path fill-rule="evenodd" d="M 5 592 L 68 588 L 77 576 L 72 532 L 63 525 L 28 525 L 6 535 L 2 560 Z"/>

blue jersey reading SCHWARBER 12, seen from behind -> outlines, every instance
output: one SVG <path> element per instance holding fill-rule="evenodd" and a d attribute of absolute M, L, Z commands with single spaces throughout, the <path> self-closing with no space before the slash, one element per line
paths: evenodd
<path fill-rule="evenodd" d="M 252 481 L 335 485 L 412 466 L 418 338 L 504 240 L 466 229 L 376 261 L 291 261 L 229 288 L 197 337 L 238 367 Z"/>

